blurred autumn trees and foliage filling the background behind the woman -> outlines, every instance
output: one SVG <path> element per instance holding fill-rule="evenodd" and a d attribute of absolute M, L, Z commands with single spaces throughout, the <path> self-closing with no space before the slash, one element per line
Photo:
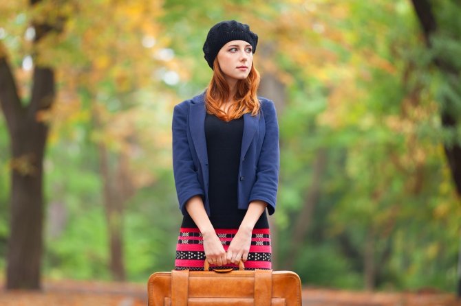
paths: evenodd
<path fill-rule="evenodd" d="M 456 294 L 460 14 L 455 0 L 1 1 L 0 282 L 173 268 L 173 106 L 211 79 L 210 27 L 236 19 L 259 35 L 259 95 L 279 115 L 274 268 Z"/>

